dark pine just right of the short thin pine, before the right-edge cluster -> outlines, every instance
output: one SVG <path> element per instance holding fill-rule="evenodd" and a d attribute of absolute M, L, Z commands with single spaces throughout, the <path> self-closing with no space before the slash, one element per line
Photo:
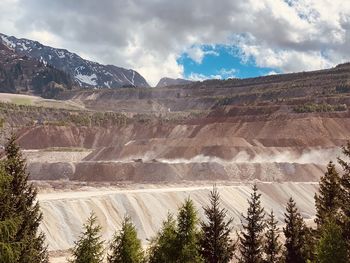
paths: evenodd
<path fill-rule="evenodd" d="M 289 199 L 286 211 L 284 214 L 286 226 L 283 228 L 286 238 L 285 262 L 304 263 L 307 260 L 305 256 L 306 226 L 293 198 Z"/>

